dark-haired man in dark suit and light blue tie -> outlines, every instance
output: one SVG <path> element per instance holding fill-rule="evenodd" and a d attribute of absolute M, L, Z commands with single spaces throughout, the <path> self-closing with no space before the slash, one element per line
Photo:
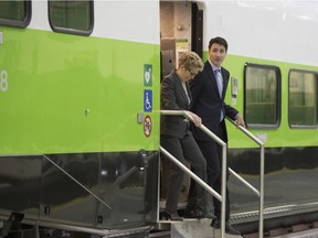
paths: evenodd
<path fill-rule="evenodd" d="M 209 43 L 209 61 L 204 68 L 190 83 L 192 94 L 192 111 L 202 118 L 202 123 L 215 133 L 220 139 L 227 143 L 227 132 L 224 117 L 236 121 L 237 125 L 245 127 L 244 120 L 237 110 L 224 102 L 226 87 L 230 78 L 227 69 L 221 66 L 227 53 L 227 42 L 222 37 L 214 37 Z M 200 147 L 208 169 L 208 184 L 221 194 L 221 167 L 222 167 L 222 147 L 208 137 L 200 129 L 194 128 L 194 138 Z M 229 167 L 227 167 L 229 170 Z M 229 178 L 229 172 L 226 180 Z M 214 218 L 211 226 L 220 228 L 221 203 L 213 197 Z M 226 186 L 226 213 L 225 231 L 232 235 L 240 235 L 230 220 L 230 198 Z"/>

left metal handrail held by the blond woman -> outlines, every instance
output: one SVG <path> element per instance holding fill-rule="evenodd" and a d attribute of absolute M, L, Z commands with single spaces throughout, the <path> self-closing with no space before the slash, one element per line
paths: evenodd
<path fill-rule="evenodd" d="M 191 120 L 193 122 L 193 118 L 190 113 L 190 111 L 187 110 L 160 110 L 161 115 L 168 115 L 168 116 L 183 116 Z M 218 144 L 222 147 L 222 183 L 221 183 L 221 196 L 219 193 L 213 191 L 209 185 L 206 187 L 206 183 L 204 183 L 200 177 L 200 185 L 202 185 L 210 194 L 212 194 L 214 197 L 216 197 L 221 202 L 221 237 L 224 237 L 225 235 L 225 203 L 222 201 L 226 201 L 226 143 L 222 141 L 218 136 L 215 136 L 212 131 L 210 131 L 202 123 L 199 127 L 203 132 L 205 132 L 209 137 L 211 137 Z M 160 147 L 160 150 L 163 149 Z M 165 150 L 165 149 L 163 149 Z M 165 150 L 165 152 L 167 152 Z M 179 167 L 181 167 L 188 175 L 192 175 L 191 177 L 194 180 L 195 174 L 192 173 L 188 167 L 186 167 L 182 163 L 180 163 L 176 158 L 173 158 L 171 154 L 169 156 L 170 160 L 172 160 L 173 163 L 176 163 Z M 181 166 L 182 165 L 182 166 Z M 183 167 L 184 166 L 184 167 Z M 197 175 L 195 175 L 197 176 Z M 198 182 L 198 180 L 195 180 Z M 203 182 L 203 184 L 201 183 Z M 199 183 L 199 182 L 198 182 Z M 212 191 L 210 191 L 212 190 Z"/>

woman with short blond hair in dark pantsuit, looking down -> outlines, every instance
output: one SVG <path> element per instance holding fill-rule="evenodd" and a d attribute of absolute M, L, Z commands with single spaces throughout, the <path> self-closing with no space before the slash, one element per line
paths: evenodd
<path fill-rule="evenodd" d="M 178 60 L 177 71 L 166 76 L 161 82 L 162 110 L 190 110 L 191 94 L 188 82 L 203 68 L 203 62 L 198 54 L 184 52 Z M 190 112 L 197 127 L 201 118 Z M 183 116 L 161 116 L 160 144 L 184 165 L 191 164 L 193 172 L 206 181 L 206 162 L 190 130 L 190 121 Z M 178 201 L 184 172 L 170 163 L 170 178 L 166 201 L 166 217 L 181 220 L 178 215 Z M 206 206 L 206 193 L 202 186 L 195 188 L 195 205 L 198 209 Z"/>

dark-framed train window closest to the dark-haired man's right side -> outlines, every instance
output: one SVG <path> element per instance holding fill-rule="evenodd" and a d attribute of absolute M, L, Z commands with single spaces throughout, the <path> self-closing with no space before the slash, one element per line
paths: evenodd
<path fill-rule="evenodd" d="M 244 118 L 248 128 L 277 128 L 280 122 L 280 71 L 245 64 Z"/>

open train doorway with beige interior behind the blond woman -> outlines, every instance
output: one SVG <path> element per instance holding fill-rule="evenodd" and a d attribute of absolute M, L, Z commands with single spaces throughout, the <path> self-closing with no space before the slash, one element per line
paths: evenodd
<path fill-rule="evenodd" d="M 178 67 L 178 56 L 193 51 L 202 57 L 203 10 L 189 1 L 160 1 L 161 78 Z M 161 160 L 161 201 L 167 195 L 167 162 Z M 188 197 L 190 180 L 184 178 L 179 202 Z"/>

